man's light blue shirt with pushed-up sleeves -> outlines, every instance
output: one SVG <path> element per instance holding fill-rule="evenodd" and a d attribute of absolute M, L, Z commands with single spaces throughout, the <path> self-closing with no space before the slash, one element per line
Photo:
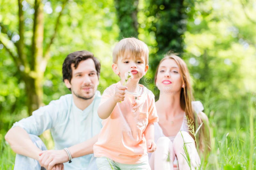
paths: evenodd
<path fill-rule="evenodd" d="M 71 94 L 64 95 L 35 110 L 32 116 L 16 122 L 13 127 L 20 126 L 37 136 L 50 129 L 55 149 L 63 149 L 84 142 L 100 132 L 102 120 L 97 114 L 99 103 L 99 91 L 85 110 L 76 107 Z M 92 157 L 93 154 L 74 158 L 72 163 L 64 163 L 64 168 L 86 169 Z"/>

